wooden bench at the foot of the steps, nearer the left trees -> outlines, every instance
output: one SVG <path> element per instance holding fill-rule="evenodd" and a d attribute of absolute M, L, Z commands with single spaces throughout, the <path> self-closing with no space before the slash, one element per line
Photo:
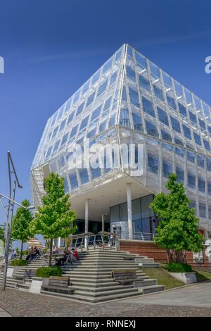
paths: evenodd
<path fill-rule="evenodd" d="M 72 294 L 74 289 L 68 287 L 68 285 L 71 285 L 69 282 L 69 277 L 50 276 L 49 278 L 44 278 L 41 284 L 41 289 L 47 292 Z"/>

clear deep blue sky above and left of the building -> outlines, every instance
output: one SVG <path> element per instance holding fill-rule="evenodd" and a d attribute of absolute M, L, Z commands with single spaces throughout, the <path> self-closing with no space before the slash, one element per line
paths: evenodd
<path fill-rule="evenodd" d="M 23 185 L 16 199 L 31 199 L 30 165 L 46 120 L 123 43 L 211 104 L 210 11 L 208 0 L 2 0 L 0 192 L 8 193 L 9 149 Z"/>

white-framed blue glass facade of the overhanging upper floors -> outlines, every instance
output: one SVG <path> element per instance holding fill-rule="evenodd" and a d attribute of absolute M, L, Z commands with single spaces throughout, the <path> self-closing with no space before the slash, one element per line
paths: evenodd
<path fill-rule="evenodd" d="M 168 175 L 177 173 L 178 182 L 184 183 L 191 201 L 196 201 L 202 226 L 211 230 L 210 106 L 127 44 L 46 123 L 31 168 L 35 206 L 44 194 L 46 168 L 65 177 L 65 188 L 72 199 L 118 173 L 131 175 L 129 170 L 122 172 L 122 168 L 114 170 L 112 166 L 79 169 L 72 162 L 70 147 L 75 142 L 83 144 L 86 137 L 92 145 L 144 144 L 144 158 L 139 160 L 143 175 L 136 177 L 136 182 L 158 194 Z M 137 202 L 133 204 L 138 208 Z M 115 208 L 111 212 L 114 219 Z M 144 228 L 143 218 L 137 218 L 139 225 L 134 220 L 135 228 Z"/>

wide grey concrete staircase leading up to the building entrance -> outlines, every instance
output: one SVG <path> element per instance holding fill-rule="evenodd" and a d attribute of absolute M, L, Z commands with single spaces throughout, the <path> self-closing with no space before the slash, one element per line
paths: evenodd
<path fill-rule="evenodd" d="M 70 276 L 71 287 L 75 289 L 74 294 L 57 294 L 45 291 L 41 291 L 41 293 L 98 303 L 165 289 L 163 285 L 158 285 L 157 280 L 150 279 L 146 273 L 143 273 L 139 262 L 136 262 L 136 258 L 141 258 L 142 263 L 153 263 L 153 261 L 148 261 L 148 258 L 145 256 L 129 254 L 124 251 L 90 249 L 89 251 L 79 252 L 79 261 L 77 263 L 62 267 L 63 275 Z M 48 266 L 48 261 L 44 256 L 30 263 L 29 266 L 18 270 L 15 275 L 23 275 L 26 268 L 37 269 L 41 266 Z M 135 269 L 139 287 L 120 285 L 118 282 L 115 282 L 111 277 L 111 272 L 119 268 Z M 21 280 L 15 280 L 15 278 L 13 280 L 7 279 L 7 287 L 13 285 L 13 288 L 28 290 L 31 281 L 28 279 L 23 284 Z"/>

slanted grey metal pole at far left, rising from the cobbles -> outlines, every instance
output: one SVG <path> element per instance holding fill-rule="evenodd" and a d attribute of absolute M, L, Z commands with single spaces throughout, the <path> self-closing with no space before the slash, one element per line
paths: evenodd
<path fill-rule="evenodd" d="M 15 199 L 15 188 L 16 188 L 16 181 L 14 181 L 13 184 L 13 201 Z M 9 204 L 11 204 L 11 208 L 8 208 L 10 211 L 8 215 L 8 224 L 7 224 L 7 236 L 6 236 L 6 243 L 5 243 L 5 262 L 4 262 L 4 275 L 2 280 L 2 290 L 4 291 L 6 288 L 6 274 L 7 274 L 7 268 L 8 268 L 8 255 L 9 255 L 9 249 L 10 249 L 10 240 L 11 240 L 11 225 L 13 220 L 13 209 L 14 209 L 14 202 L 9 201 Z"/>

